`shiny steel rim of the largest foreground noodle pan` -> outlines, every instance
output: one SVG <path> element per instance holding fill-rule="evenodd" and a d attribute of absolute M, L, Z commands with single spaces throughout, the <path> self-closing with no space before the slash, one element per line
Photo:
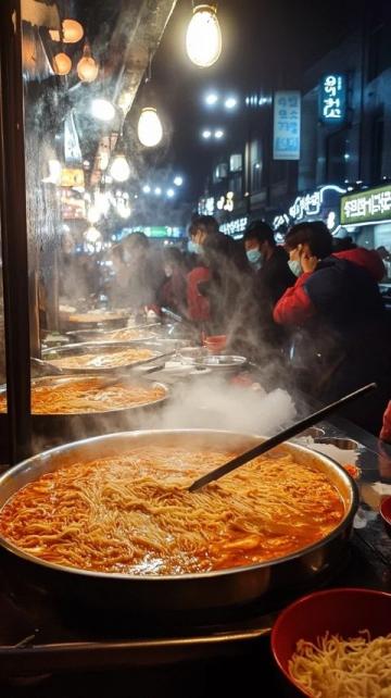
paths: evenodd
<path fill-rule="evenodd" d="M 119 432 L 115 434 L 108 434 L 104 436 L 94 436 L 92 438 L 87 438 L 87 439 L 81 439 L 79 441 L 72 441 L 70 444 L 66 444 L 65 446 L 60 446 L 52 448 L 48 451 L 45 451 L 43 453 L 40 453 L 38 456 L 33 456 L 31 458 L 23 461 L 22 463 L 18 463 L 17 465 L 14 465 L 11 470 L 7 471 L 3 475 L 0 476 L 0 489 L 2 484 L 9 478 L 9 477 L 15 477 L 17 476 L 20 471 L 23 471 L 26 465 L 29 465 L 30 463 L 34 463 L 40 458 L 50 460 L 50 458 L 54 454 L 59 454 L 62 451 L 66 452 L 68 450 L 73 450 L 76 447 L 83 447 L 84 445 L 93 445 L 93 444 L 99 444 L 101 441 L 110 441 L 113 440 L 115 441 L 116 439 L 124 438 L 124 437 L 138 437 L 138 436 L 147 436 L 147 435 L 153 435 L 153 434 L 161 434 L 164 435 L 166 434 L 167 436 L 174 436 L 176 434 L 194 434 L 194 435 L 213 435 L 213 436 L 237 436 L 239 439 L 241 438 L 256 438 L 256 439 L 263 439 L 264 437 L 260 436 L 258 434 L 243 434 L 243 433 L 237 433 L 237 432 L 227 432 L 223 429 L 153 429 L 153 431 L 135 431 L 135 432 Z M 299 550 L 292 552 L 289 556 L 285 556 L 282 558 L 276 558 L 272 560 L 266 560 L 265 562 L 260 562 L 251 565 L 242 565 L 242 566 L 237 566 L 237 568 L 227 568 L 224 570 L 213 570 L 210 572 L 197 572 L 197 573 L 186 573 L 186 574 L 165 574 L 165 575 L 136 575 L 136 574 L 123 574 L 123 573 L 112 573 L 112 572 L 96 572 L 93 570 L 83 570 L 79 568 L 71 568 L 66 565 L 60 565 L 60 564 L 54 564 L 51 562 L 47 562 L 46 560 L 41 560 L 40 558 L 37 558 L 35 556 L 28 554 L 24 552 L 21 548 L 17 548 L 14 546 L 12 543 L 8 541 L 7 538 L 1 536 L 0 534 L 0 545 L 5 548 L 7 550 L 10 550 L 17 557 L 28 560 L 29 562 L 34 562 L 35 564 L 39 564 L 40 566 L 50 569 L 55 572 L 65 572 L 67 574 L 72 575 L 77 575 L 77 576 L 84 576 L 84 577 L 91 577 L 91 578 L 98 578 L 98 579 L 116 579 L 118 583 L 125 583 L 125 582 L 141 582 L 142 583 L 148 583 L 148 584 L 161 584 L 161 583 L 180 583 L 181 581 L 195 581 L 195 579 L 210 579 L 210 578 L 222 578 L 225 576 L 232 576 L 234 574 L 240 574 L 240 573 L 252 573 L 257 570 L 262 569 L 267 569 L 267 568 L 277 568 L 279 565 L 286 564 L 287 562 L 291 562 L 293 560 L 298 560 L 304 556 L 312 554 L 313 552 L 316 552 L 317 550 L 321 549 L 325 544 L 328 541 L 332 540 L 333 538 L 337 538 L 341 531 L 346 526 L 346 524 L 353 523 L 356 509 L 358 506 L 358 488 L 354 479 L 349 475 L 349 473 L 333 459 L 329 458 L 328 456 L 325 456 L 323 453 L 319 453 L 317 451 L 314 451 L 310 448 L 306 448 L 305 446 L 301 446 L 300 444 L 293 443 L 293 441 L 287 441 L 286 443 L 288 446 L 293 447 L 294 449 L 298 449 L 302 452 L 308 452 L 317 458 L 319 457 L 320 460 L 331 463 L 335 468 L 338 469 L 340 472 L 341 477 L 345 481 L 345 484 L 349 486 L 352 493 L 352 502 L 350 510 L 345 513 L 343 516 L 342 521 L 338 524 L 338 526 L 331 531 L 327 536 L 324 538 L 320 538 L 315 544 L 312 544 L 311 546 L 307 546 L 305 548 L 300 548 Z M 283 445 L 282 445 L 283 446 Z"/>

